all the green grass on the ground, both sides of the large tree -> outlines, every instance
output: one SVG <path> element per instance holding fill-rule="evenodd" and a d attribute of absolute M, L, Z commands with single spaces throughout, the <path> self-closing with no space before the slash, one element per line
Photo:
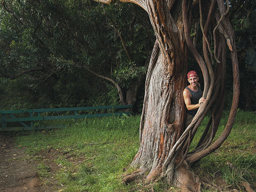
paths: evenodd
<path fill-rule="evenodd" d="M 224 113 L 220 123 L 221 134 L 227 121 Z M 206 118 L 198 133 L 207 124 Z M 132 171 L 128 165 L 139 148 L 140 116 L 88 118 L 64 129 L 33 131 L 29 135 L 16 137 L 18 146 L 26 147 L 29 154 L 40 158 L 46 150 L 56 154 L 53 160 L 60 169 L 55 174 L 42 163 L 38 175 L 57 181 L 58 190 L 64 192 L 155 192 L 176 191 L 160 181 L 149 186 L 121 184 L 124 171 Z M 196 164 L 196 173 L 211 180 L 213 184 L 221 178 L 230 188 L 244 191 L 246 180 L 256 185 L 256 114 L 238 110 L 236 122 L 227 140 L 214 153 Z M 199 136 L 196 135 L 196 145 Z M 230 164 L 235 169 L 230 167 Z M 49 184 L 49 182 L 46 182 Z M 205 189 L 206 191 L 214 191 Z"/>

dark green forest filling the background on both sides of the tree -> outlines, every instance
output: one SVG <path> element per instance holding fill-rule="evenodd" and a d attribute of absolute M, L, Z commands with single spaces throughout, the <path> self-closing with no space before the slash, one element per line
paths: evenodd
<path fill-rule="evenodd" d="M 240 68 L 239 108 L 255 111 L 256 1 L 229 2 Z M 196 28 L 190 35 L 202 40 Z M 154 42 L 148 15 L 135 4 L 4 0 L 0 5 L 0 108 L 133 104 L 133 111 L 140 113 Z M 228 108 L 232 66 L 227 59 Z M 198 64 L 189 58 L 188 70 L 192 69 L 200 74 Z M 199 81 L 203 83 L 202 76 Z"/>

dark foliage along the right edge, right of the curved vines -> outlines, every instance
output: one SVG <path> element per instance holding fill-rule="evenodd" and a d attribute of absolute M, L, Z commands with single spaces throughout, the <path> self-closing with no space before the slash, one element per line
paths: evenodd
<path fill-rule="evenodd" d="M 244 110 L 256 110 L 256 1 L 232 0 L 230 3 L 231 8 L 234 8 L 231 12 L 231 22 L 234 26 L 239 58 L 239 107 Z"/>

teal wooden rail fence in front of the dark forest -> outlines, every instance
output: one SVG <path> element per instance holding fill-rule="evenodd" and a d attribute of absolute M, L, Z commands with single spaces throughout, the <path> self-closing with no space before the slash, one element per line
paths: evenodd
<path fill-rule="evenodd" d="M 91 110 L 108 110 L 108 109 L 125 109 L 132 108 L 132 105 L 114 105 L 114 106 L 95 106 L 95 107 L 74 107 L 74 108 L 50 108 L 50 109 L 28 109 L 28 110 L 1 110 L 1 122 L 2 127 L 0 131 L 14 131 L 14 130 L 35 130 L 35 129 L 51 129 L 60 126 L 34 126 L 36 121 L 44 120 L 57 120 L 57 119 L 78 119 L 78 118 L 92 118 L 92 117 L 104 117 L 104 116 L 121 116 L 123 114 L 130 115 L 130 112 L 115 112 L 115 113 L 99 113 L 94 114 L 78 114 L 84 111 Z M 42 113 L 47 115 L 42 116 Z M 48 116 L 48 112 L 72 112 L 74 115 L 61 115 L 61 116 Z M 22 116 L 22 117 L 18 117 Z M 8 127 L 8 123 L 18 122 L 22 126 Z"/>

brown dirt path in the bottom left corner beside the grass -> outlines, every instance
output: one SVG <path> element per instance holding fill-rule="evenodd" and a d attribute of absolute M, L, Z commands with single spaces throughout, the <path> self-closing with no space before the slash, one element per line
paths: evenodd
<path fill-rule="evenodd" d="M 40 192 L 36 166 L 14 138 L 0 135 L 0 192 Z"/>

